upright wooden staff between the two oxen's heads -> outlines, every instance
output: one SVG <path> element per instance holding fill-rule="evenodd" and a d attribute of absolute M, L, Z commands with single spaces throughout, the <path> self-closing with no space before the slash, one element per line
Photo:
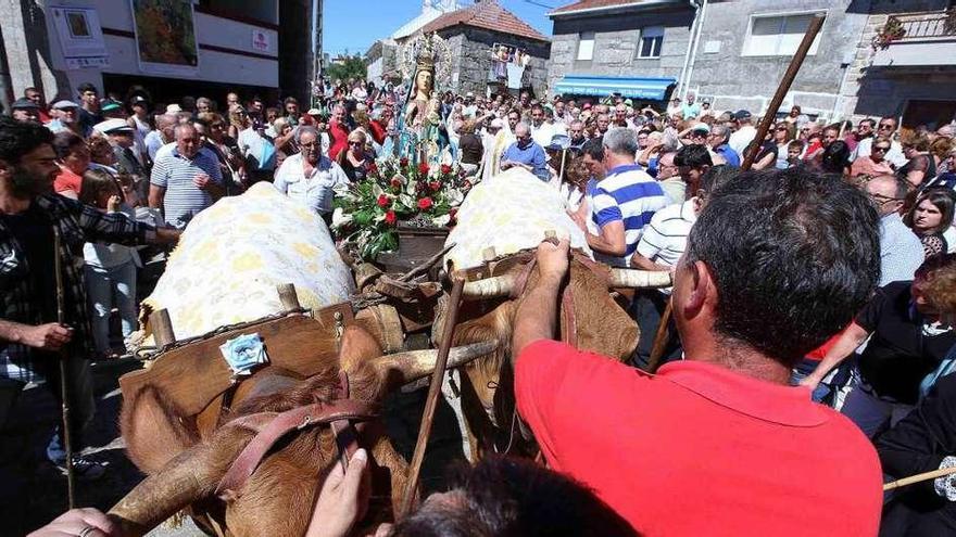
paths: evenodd
<path fill-rule="evenodd" d="M 462 291 L 465 289 L 464 278 L 452 278 L 452 296 L 449 299 L 448 316 L 442 327 L 441 345 L 438 347 L 438 360 L 435 371 L 431 373 L 431 384 L 428 386 L 428 397 L 425 400 L 425 412 L 422 414 L 422 427 L 418 430 L 418 440 L 415 443 L 415 455 L 408 468 L 408 482 L 405 484 L 405 497 L 402 500 L 402 509 L 399 511 L 399 520 L 404 519 L 412 511 L 415 489 L 418 487 L 418 474 L 422 471 L 422 461 L 425 459 L 425 448 L 428 437 L 431 436 L 431 424 L 435 421 L 435 409 L 438 407 L 438 397 L 441 394 L 441 384 L 448 368 L 448 355 L 452 348 L 452 338 L 455 336 L 455 324 L 458 322 L 458 306 L 462 303 Z"/>

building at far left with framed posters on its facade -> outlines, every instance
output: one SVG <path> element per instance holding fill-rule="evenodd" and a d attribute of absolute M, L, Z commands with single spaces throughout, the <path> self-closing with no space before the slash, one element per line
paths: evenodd
<path fill-rule="evenodd" d="M 101 93 L 125 97 L 138 85 L 156 102 L 206 95 L 219 104 L 226 92 L 249 99 L 288 94 L 306 99 L 312 80 L 312 0 L 200 0 L 192 8 L 191 36 L 164 27 L 155 17 L 139 21 L 130 2 L 117 0 L 0 0 L 3 99 L 27 87 L 43 90 L 48 101 L 76 99 L 76 88 L 92 82 Z M 161 10 L 155 10 L 160 12 Z M 281 25 L 279 21 L 281 20 Z M 181 34 L 168 49 L 188 50 L 191 62 L 148 62 L 143 27 Z M 168 26 L 168 25 L 167 25 Z M 162 43 L 153 41 L 153 48 Z"/>

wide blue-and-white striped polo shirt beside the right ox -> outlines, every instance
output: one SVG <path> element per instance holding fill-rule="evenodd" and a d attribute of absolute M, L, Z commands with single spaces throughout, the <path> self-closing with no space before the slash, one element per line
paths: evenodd
<path fill-rule="evenodd" d="M 664 190 L 637 164 L 613 168 L 598 182 L 591 196 L 591 218 L 599 228 L 622 221 L 627 251 L 621 258 L 604 256 L 603 261 L 628 266 L 628 259 L 638 248 L 644 226 L 654 213 L 667 206 Z"/>

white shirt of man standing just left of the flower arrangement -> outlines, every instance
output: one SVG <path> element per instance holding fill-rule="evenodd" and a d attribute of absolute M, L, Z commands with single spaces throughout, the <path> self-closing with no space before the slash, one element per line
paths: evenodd
<path fill-rule="evenodd" d="M 294 154 L 282 162 L 276 171 L 273 184 L 301 205 L 319 215 L 332 212 L 334 189 L 349 184 L 349 178 L 341 166 L 322 156 L 309 175 L 305 174 L 302 154 Z"/>

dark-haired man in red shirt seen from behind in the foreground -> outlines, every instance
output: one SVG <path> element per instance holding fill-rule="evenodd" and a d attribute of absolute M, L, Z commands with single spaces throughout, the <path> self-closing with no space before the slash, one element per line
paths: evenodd
<path fill-rule="evenodd" d="M 788 381 L 872 292 L 878 221 L 863 193 L 804 170 L 727 182 L 675 272 L 685 359 L 656 375 L 552 341 L 568 244 L 541 244 L 513 348 L 549 464 L 645 536 L 876 535 L 873 447 Z"/>

